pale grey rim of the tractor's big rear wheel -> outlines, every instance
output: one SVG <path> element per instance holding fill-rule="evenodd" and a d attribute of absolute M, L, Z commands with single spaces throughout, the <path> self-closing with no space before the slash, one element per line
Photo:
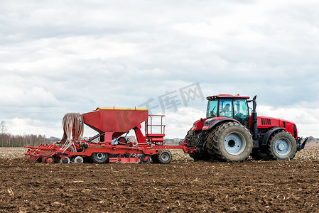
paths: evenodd
<path fill-rule="evenodd" d="M 241 133 L 230 133 L 225 138 L 225 149 L 229 154 L 239 155 L 245 149 L 246 141 Z"/>

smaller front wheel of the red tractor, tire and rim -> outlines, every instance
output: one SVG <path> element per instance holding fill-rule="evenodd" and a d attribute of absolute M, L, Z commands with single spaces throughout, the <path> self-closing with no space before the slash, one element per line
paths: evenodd
<path fill-rule="evenodd" d="M 279 131 L 271 136 L 268 145 L 268 153 L 271 158 L 290 160 L 296 155 L 296 152 L 296 140 L 288 131 Z"/>

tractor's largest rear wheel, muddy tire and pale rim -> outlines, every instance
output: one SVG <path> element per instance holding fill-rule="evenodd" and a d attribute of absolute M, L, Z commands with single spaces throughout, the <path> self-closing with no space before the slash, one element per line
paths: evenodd
<path fill-rule="evenodd" d="M 243 161 L 252 153 L 252 136 L 242 124 L 227 122 L 211 134 L 214 152 L 222 160 Z"/>

